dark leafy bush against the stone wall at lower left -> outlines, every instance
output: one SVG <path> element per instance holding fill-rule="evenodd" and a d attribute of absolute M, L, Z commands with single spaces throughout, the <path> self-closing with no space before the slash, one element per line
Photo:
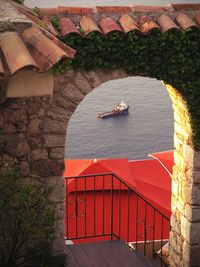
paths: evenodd
<path fill-rule="evenodd" d="M 0 172 L 0 267 L 64 267 L 64 254 L 54 255 L 53 187 Z"/>

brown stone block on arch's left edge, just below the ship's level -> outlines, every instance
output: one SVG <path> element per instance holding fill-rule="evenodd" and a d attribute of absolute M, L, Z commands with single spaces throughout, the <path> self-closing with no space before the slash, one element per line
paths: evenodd
<path fill-rule="evenodd" d="M 44 133 L 66 133 L 66 122 L 52 120 L 50 118 L 46 118 L 44 122 Z"/>

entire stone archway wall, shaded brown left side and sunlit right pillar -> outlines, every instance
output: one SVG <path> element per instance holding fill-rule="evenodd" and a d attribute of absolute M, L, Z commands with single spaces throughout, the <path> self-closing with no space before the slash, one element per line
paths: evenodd
<path fill-rule="evenodd" d="M 55 251 L 64 250 L 63 159 L 68 121 L 82 99 L 103 82 L 127 77 L 121 70 L 68 70 L 54 79 L 53 97 L 0 101 L 0 168 L 19 166 L 55 186 Z M 200 266 L 200 152 L 191 141 L 190 117 L 180 94 L 167 85 L 175 120 L 175 166 L 172 179 L 170 266 Z"/>

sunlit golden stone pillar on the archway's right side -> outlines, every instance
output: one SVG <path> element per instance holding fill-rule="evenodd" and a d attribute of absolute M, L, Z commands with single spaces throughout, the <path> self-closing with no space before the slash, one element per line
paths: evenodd
<path fill-rule="evenodd" d="M 200 266 L 200 152 L 192 147 L 187 106 L 167 86 L 174 109 L 175 166 L 172 178 L 170 266 Z"/>

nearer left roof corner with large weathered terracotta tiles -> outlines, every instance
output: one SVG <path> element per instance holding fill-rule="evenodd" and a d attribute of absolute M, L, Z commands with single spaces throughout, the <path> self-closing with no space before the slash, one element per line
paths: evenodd
<path fill-rule="evenodd" d="M 17 19 L 13 13 L 9 27 L 4 27 L 5 32 L 0 35 L 0 78 L 8 78 L 24 68 L 45 72 L 60 60 L 74 57 L 75 50 L 56 38 L 58 33 L 49 17 L 44 16 L 41 20 L 31 9 L 15 2 L 11 5 Z M 25 18 L 23 25 L 19 16 Z"/>

